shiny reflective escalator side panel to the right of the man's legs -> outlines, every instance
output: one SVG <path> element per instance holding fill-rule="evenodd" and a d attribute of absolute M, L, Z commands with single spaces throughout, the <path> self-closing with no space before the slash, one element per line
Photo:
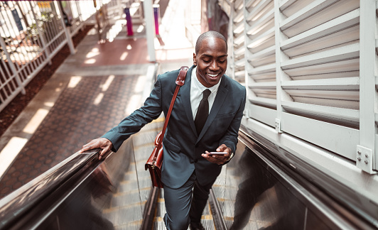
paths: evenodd
<path fill-rule="evenodd" d="M 227 229 L 374 229 L 239 134 L 237 153 L 212 187 Z"/>

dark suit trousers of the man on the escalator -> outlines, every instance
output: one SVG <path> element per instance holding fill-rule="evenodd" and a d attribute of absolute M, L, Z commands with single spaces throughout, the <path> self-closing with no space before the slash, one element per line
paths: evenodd
<path fill-rule="evenodd" d="M 208 185 L 200 185 L 195 172 L 188 181 L 178 189 L 164 186 L 164 200 L 166 214 L 164 223 L 168 230 L 186 230 L 189 223 L 200 223 L 203 209 L 207 204 L 210 188 L 215 181 Z"/>

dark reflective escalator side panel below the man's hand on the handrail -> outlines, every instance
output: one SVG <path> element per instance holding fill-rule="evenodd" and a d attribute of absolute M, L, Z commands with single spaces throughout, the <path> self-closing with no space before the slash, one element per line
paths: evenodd
<path fill-rule="evenodd" d="M 67 197 L 60 206 L 43 221 L 37 229 L 115 229 L 119 215 L 114 217 L 110 209 L 114 206 L 114 194 L 133 162 L 134 148 L 127 140 L 117 153 L 109 155 L 98 168 L 92 170 L 82 184 Z M 134 170 L 134 169 L 131 169 Z M 134 188 L 138 190 L 138 188 Z M 138 212 L 124 213 L 124 219 Z M 135 229 L 138 229 L 136 226 Z"/>

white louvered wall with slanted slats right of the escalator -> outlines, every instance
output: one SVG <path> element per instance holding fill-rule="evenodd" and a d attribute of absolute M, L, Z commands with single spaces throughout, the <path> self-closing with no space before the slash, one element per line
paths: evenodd
<path fill-rule="evenodd" d="M 242 125 L 378 204 L 378 1 L 237 2 Z"/>

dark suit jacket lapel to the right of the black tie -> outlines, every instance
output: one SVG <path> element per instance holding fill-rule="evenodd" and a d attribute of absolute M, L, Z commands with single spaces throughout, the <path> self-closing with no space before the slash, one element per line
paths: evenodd
<path fill-rule="evenodd" d="M 214 121 L 215 117 L 220 111 L 220 108 L 222 107 L 223 102 L 225 102 L 225 99 L 227 97 L 227 92 L 228 92 L 228 89 L 226 89 L 226 86 L 227 86 L 227 79 L 225 76 L 223 76 L 222 81 L 220 82 L 220 86 L 218 88 L 217 97 L 215 97 L 215 101 L 214 101 L 214 104 L 212 104 L 210 114 L 209 116 L 207 116 L 205 126 L 203 126 L 200 136 L 198 136 L 197 143 L 198 141 L 200 141 L 203 134 L 210 127 L 210 124 L 212 124 L 212 121 Z M 193 125 L 194 125 L 194 122 L 193 122 Z"/>

